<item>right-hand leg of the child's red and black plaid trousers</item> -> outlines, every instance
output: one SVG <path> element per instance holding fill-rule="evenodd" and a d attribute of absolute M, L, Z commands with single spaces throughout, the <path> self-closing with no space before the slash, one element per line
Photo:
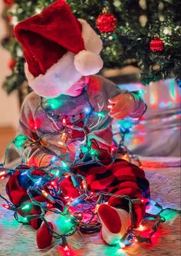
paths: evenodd
<path fill-rule="evenodd" d="M 114 164 L 107 166 L 85 166 L 78 168 L 76 173 L 86 177 L 90 191 L 124 194 L 130 198 L 150 198 L 150 186 L 144 171 L 128 161 L 117 160 Z M 126 199 L 111 196 L 108 203 L 116 208 L 129 210 Z M 133 204 L 135 228 L 142 221 L 145 212 L 146 204 Z"/>

